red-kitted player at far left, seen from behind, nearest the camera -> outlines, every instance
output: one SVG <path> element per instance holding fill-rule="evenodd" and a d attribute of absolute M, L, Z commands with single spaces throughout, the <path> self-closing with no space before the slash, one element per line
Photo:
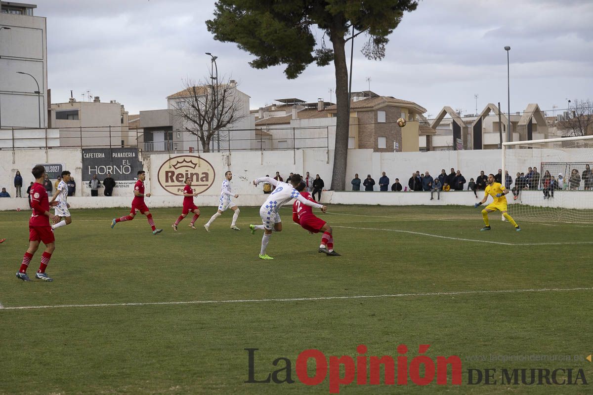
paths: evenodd
<path fill-rule="evenodd" d="M 35 278 L 43 281 L 53 281 L 45 272 L 49 260 L 52 258 L 52 253 L 56 249 L 55 238 L 53 237 L 53 229 L 49 224 L 49 220 L 56 223 L 59 217 L 56 217 L 49 212 L 49 199 L 47 198 L 47 191 L 43 188 L 42 182 L 45 178 L 45 168 L 42 165 L 37 165 L 31 171 L 35 177 L 35 184 L 31 187 L 31 208 L 33 213 L 29 219 L 29 248 L 23 256 L 21 268 L 18 269 L 17 278 L 23 281 L 31 281 L 27 275 L 27 268 L 33 255 L 39 248 L 39 242 L 45 245 L 45 251 L 41 257 L 41 265 L 35 274 Z M 57 204 L 57 202 L 55 202 Z"/>

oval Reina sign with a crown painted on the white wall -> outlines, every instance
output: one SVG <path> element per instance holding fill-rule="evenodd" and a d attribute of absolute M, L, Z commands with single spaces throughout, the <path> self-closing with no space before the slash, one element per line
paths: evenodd
<path fill-rule="evenodd" d="M 215 172 L 208 160 L 193 155 L 174 156 L 158 169 L 158 183 L 173 195 L 183 195 L 185 179 L 192 179 L 193 191 L 202 194 L 214 182 Z"/>

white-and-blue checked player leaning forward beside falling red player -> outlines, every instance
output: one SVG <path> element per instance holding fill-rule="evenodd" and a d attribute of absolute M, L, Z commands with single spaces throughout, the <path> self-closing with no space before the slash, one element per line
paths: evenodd
<path fill-rule="evenodd" d="M 257 229 L 263 230 L 263 237 L 262 237 L 262 249 L 260 250 L 259 257 L 260 259 L 274 259 L 271 256 L 267 255 L 266 248 L 267 243 L 270 242 L 270 237 L 272 237 L 272 231 L 281 232 L 282 231 L 282 220 L 280 219 L 280 214 L 278 210 L 280 207 L 291 201 L 292 199 L 296 199 L 302 204 L 310 205 L 311 207 L 321 208 L 321 211 L 324 213 L 327 210 L 327 207 L 315 203 L 314 201 L 307 200 L 299 194 L 295 187 L 301 183 L 301 175 L 294 174 L 291 177 L 291 184 L 282 181 L 276 181 L 270 177 L 260 177 L 253 181 L 253 185 L 259 184 L 260 182 L 269 182 L 270 184 L 274 185 L 275 190 L 269 195 L 266 200 L 266 203 L 262 204 L 260 207 L 260 217 L 262 217 L 262 225 L 253 225 L 249 226 L 251 229 L 251 234 L 254 235 Z"/>

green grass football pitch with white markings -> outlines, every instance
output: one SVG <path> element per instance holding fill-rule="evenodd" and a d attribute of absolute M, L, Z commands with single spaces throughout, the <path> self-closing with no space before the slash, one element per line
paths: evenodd
<path fill-rule="evenodd" d="M 591 393 L 593 362 L 584 359 L 593 352 L 590 225 L 518 220 L 522 232 L 515 232 L 491 214 L 492 231 L 479 232 L 473 207 L 336 205 L 319 214 L 334 227 L 342 256 L 332 257 L 318 253 L 320 235 L 293 224 L 283 208 L 284 229 L 267 251 L 275 259 L 263 261 L 262 233 L 248 229 L 259 223 L 257 208 L 241 208 L 239 232 L 224 213 L 210 233 L 202 226 L 213 207 L 202 207 L 197 230 L 188 217 L 177 233 L 171 223 L 180 208 L 154 209 L 164 229 L 158 236 L 141 215 L 110 229 L 126 211 L 72 210 L 73 223 L 55 232 L 53 282 L 15 278 L 30 213 L 0 212 L 0 238 L 8 238 L 0 245 L 0 394 L 328 394 L 329 378 L 318 386 L 298 381 L 298 354 L 314 348 L 356 358 L 359 344 L 368 356 L 394 359 L 406 344 L 410 361 L 418 345 L 430 344 L 434 361 L 461 358 L 463 384 L 352 383 L 340 393 Z M 304 300 L 286 300 L 294 298 Z M 232 302 L 169 303 L 191 301 Z M 9 309 L 72 304 L 111 306 Z M 245 348 L 259 349 L 257 380 L 285 357 L 296 382 L 245 383 Z M 589 385 L 471 386 L 469 368 L 581 368 Z"/>

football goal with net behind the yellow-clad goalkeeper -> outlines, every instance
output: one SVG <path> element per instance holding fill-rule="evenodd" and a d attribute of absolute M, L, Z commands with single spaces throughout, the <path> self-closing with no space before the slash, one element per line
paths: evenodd
<path fill-rule="evenodd" d="M 593 223 L 593 136 L 504 143 L 502 168 L 512 217 Z"/>

